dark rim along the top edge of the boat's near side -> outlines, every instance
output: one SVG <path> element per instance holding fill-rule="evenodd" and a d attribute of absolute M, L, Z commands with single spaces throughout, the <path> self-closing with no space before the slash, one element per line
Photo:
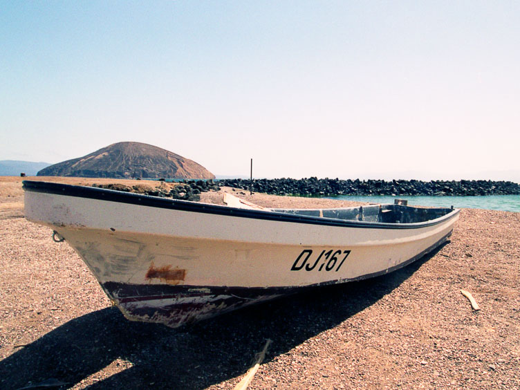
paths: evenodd
<path fill-rule="evenodd" d="M 198 212 L 203 214 L 216 214 L 222 216 L 234 216 L 239 218 L 262 219 L 268 221 L 280 221 L 290 223 L 306 223 L 310 225 L 327 225 L 348 228 L 375 228 L 375 229 L 418 229 L 432 225 L 438 225 L 449 219 L 454 218 L 461 210 L 437 207 L 431 210 L 447 210 L 447 214 L 429 221 L 415 223 L 388 223 L 372 221 L 355 221 L 349 219 L 333 219 L 320 216 L 307 216 L 288 214 L 286 212 L 275 212 L 270 210 L 249 210 L 237 207 L 214 205 L 211 203 L 200 203 L 183 201 L 180 199 L 160 198 L 144 194 L 134 194 L 131 192 L 117 191 L 97 187 L 87 187 L 83 185 L 68 185 L 63 183 L 50 183 L 45 181 L 24 180 L 22 182 L 24 191 L 39 192 L 42 194 L 56 194 L 62 196 L 73 196 L 76 198 L 89 198 L 98 201 L 111 201 L 115 203 L 126 203 L 130 205 L 141 205 L 147 207 L 157 207 L 166 210 L 178 210 L 183 212 Z M 363 206 L 364 207 L 364 206 Z M 419 208 L 411 206 L 400 206 L 408 208 Z M 343 207 L 344 209 L 355 207 Z M 290 209 L 293 210 L 293 209 Z M 294 209 L 294 210 L 319 210 L 319 209 Z M 341 210 L 341 209 L 322 209 L 322 210 Z"/>

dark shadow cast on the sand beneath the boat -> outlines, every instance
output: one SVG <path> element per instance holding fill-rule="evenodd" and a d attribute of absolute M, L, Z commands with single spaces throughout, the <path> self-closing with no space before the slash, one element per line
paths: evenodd
<path fill-rule="evenodd" d="M 97 310 L 1 361 L 0 387 L 47 380 L 54 388 L 60 382 L 68 388 L 94 375 L 89 389 L 205 389 L 243 375 L 268 338 L 272 344 L 264 362 L 341 324 L 397 288 L 438 250 L 382 277 L 314 288 L 178 329 L 129 322 L 117 308 Z M 97 378 L 109 364 L 120 370 L 118 359 L 131 367 Z"/>

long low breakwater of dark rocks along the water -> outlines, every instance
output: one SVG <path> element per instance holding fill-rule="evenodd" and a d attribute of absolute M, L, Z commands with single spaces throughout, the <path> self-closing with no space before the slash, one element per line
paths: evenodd
<path fill-rule="evenodd" d="M 250 189 L 250 180 L 223 179 L 221 186 Z M 518 195 L 520 185 L 510 181 L 492 180 L 340 180 L 331 178 L 279 178 L 256 179 L 252 183 L 253 192 L 275 195 L 296 196 L 337 196 L 337 195 L 391 195 L 391 196 L 476 196 L 476 195 Z"/>

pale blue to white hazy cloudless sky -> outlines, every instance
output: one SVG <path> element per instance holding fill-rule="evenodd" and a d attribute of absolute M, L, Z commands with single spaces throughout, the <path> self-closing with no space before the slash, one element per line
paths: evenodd
<path fill-rule="evenodd" d="M 220 175 L 501 179 L 520 2 L 2 0 L 0 160 L 120 141 Z"/>

